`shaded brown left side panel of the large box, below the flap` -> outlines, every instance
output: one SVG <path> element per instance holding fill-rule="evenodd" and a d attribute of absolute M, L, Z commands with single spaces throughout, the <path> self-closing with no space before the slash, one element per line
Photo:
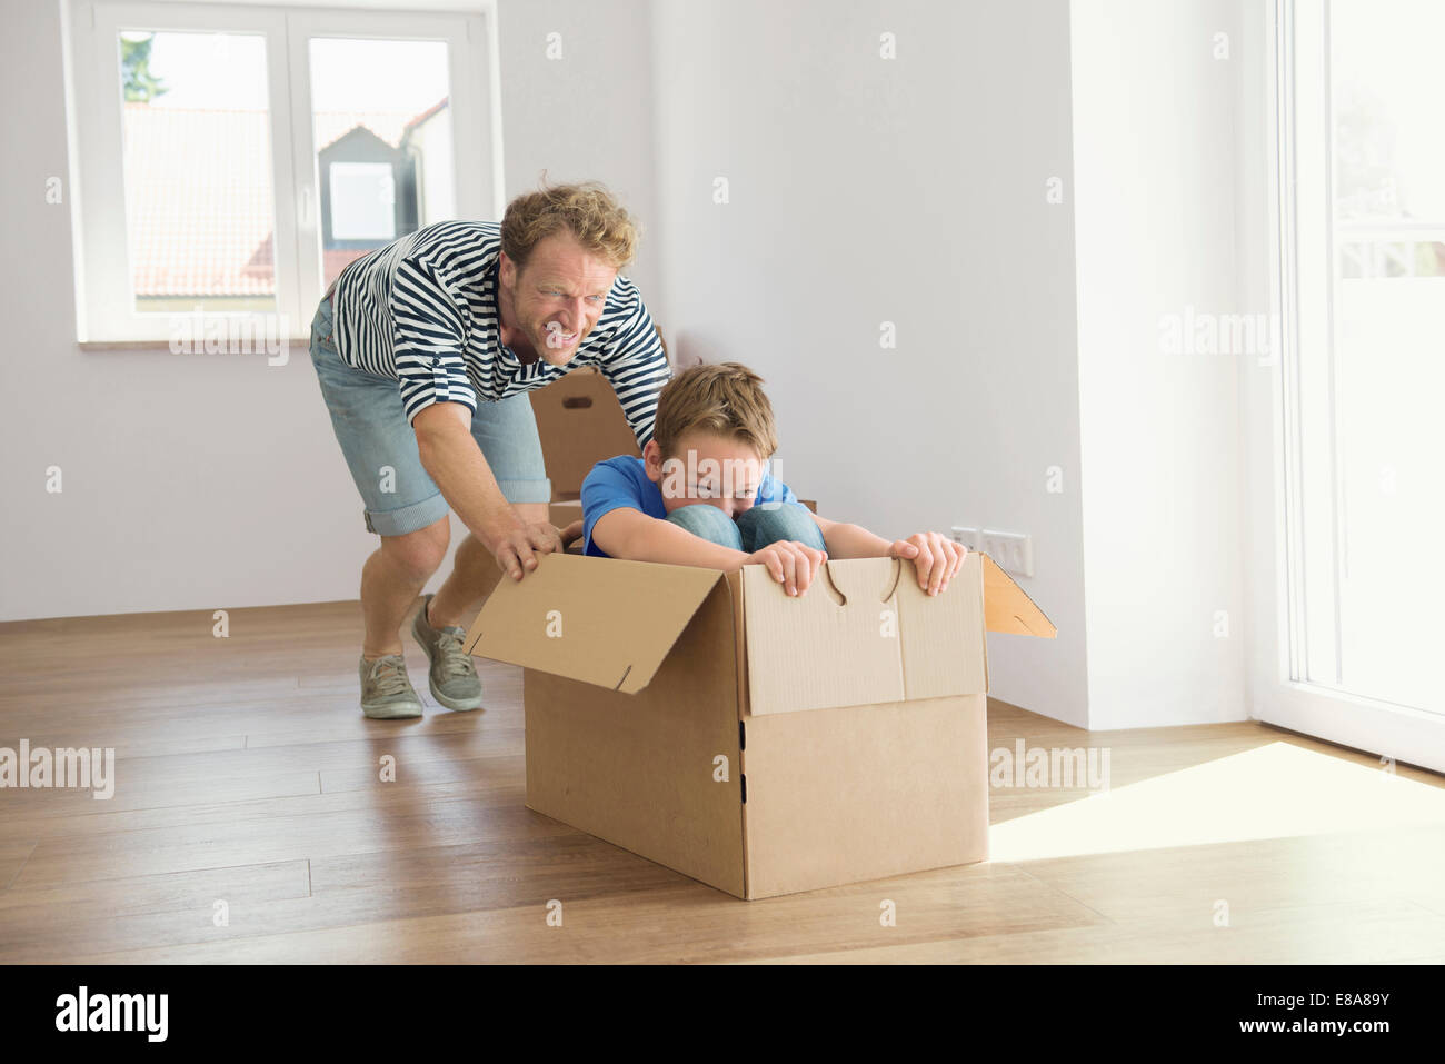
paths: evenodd
<path fill-rule="evenodd" d="M 734 659 L 717 581 L 640 694 L 527 669 L 527 807 L 741 898 Z M 718 755 L 727 782 L 714 781 Z"/>

